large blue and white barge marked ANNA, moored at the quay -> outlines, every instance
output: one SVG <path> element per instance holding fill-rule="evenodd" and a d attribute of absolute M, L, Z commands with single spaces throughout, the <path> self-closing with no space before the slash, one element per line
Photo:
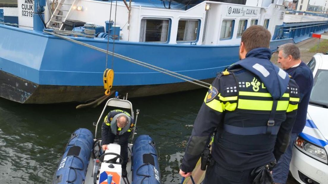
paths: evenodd
<path fill-rule="evenodd" d="M 47 34 L 45 27 L 75 41 L 207 82 L 238 61 L 241 34 L 251 25 L 268 28 L 272 51 L 294 42 L 298 35 L 309 37 L 310 30 L 301 31 L 308 22 L 284 22 L 282 0 L 218 1 L 37 0 L 33 4 L 33 0 L 18 0 L 19 27 L 0 24 L 0 97 L 20 103 L 88 101 L 103 95 L 101 78 L 106 66 L 115 71 L 113 90 L 129 91 L 130 97 L 199 88 Z M 84 23 L 92 24 L 79 27 Z M 328 21 L 324 18 L 311 24 L 321 26 L 313 29 L 318 32 L 327 28 Z M 73 31 L 67 30 L 70 27 Z"/>

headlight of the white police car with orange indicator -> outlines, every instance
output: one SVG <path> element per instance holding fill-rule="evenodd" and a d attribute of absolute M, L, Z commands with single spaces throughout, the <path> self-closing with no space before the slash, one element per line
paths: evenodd
<path fill-rule="evenodd" d="M 323 147 L 312 144 L 301 137 L 297 137 L 295 145 L 298 150 L 305 153 L 306 155 L 311 156 L 323 163 L 328 163 L 327 152 Z"/>

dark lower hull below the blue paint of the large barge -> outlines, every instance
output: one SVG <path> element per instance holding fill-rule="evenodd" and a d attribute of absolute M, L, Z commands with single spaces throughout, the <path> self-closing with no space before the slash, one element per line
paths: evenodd
<path fill-rule="evenodd" d="M 203 80 L 211 83 L 214 78 Z M 64 102 L 87 103 L 104 95 L 103 86 L 60 86 L 39 85 L 31 81 L 0 71 L 0 96 L 19 103 L 50 104 Z M 144 97 L 199 89 L 192 83 L 171 83 L 157 85 L 113 86 L 112 91 L 119 91 L 129 97 Z"/>

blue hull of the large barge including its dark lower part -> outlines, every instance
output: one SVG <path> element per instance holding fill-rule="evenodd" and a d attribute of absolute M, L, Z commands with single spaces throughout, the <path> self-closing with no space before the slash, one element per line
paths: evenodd
<path fill-rule="evenodd" d="M 200 88 L 192 83 L 127 62 L 67 40 L 0 25 L 0 96 L 20 103 L 85 102 L 103 95 L 103 71 L 115 71 L 113 89 L 129 97 Z M 102 38 L 75 38 L 107 49 Z M 272 51 L 292 39 L 271 42 Z M 238 61 L 239 45 L 202 46 L 113 41 L 109 50 L 197 80 L 212 82 Z"/>

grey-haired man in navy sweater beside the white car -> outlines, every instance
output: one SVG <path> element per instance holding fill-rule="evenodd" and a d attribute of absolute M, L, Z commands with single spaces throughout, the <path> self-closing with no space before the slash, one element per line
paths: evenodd
<path fill-rule="evenodd" d="M 273 169 L 275 183 L 285 184 L 289 173 L 289 164 L 292 159 L 294 142 L 305 126 L 307 107 L 313 86 L 313 74 L 310 68 L 301 61 L 299 49 L 295 44 L 288 43 L 281 45 L 278 51 L 278 63 L 295 80 L 299 86 L 299 92 L 296 91 L 296 93 L 300 95 L 297 118 L 292 129 L 289 146 Z"/>

